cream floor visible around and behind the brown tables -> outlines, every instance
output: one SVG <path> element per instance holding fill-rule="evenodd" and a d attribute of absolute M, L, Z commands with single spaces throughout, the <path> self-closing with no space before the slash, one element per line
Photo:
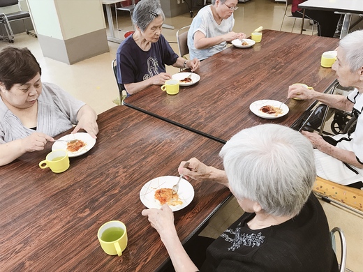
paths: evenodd
<path fill-rule="evenodd" d="M 253 29 L 263 26 L 265 29 L 279 30 L 285 3 L 276 3 L 273 0 L 251 0 L 246 3 L 239 3 L 239 9 L 235 11 L 235 29 L 237 32 L 250 34 Z M 193 9 L 196 14 L 198 10 Z M 173 18 L 166 18 L 165 23 L 175 29 L 163 29 L 163 35 L 171 43 L 173 50 L 178 52 L 175 33 L 177 29 L 191 24 L 192 18 L 189 13 Z M 106 20 L 107 22 L 107 20 Z M 119 22 L 122 29 L 131 30 L 130 15 L 123 13 L 119 15 Z M 283 31 L 291 31 L 292 19 L 286 19 L 283 24 Z M 308 24 L 308 22 L 306 22 Z M 305 26 L 309 29 L 309 25 Z M 299 33 L 299 23 L 295 25 L 294 32 Z M 310 31 L 304 31 L 310 34 Z M 120 37 L 124 32 L 117 33 Z M 95 56 L 91 59 L 80 61 L 73 65 L 54 61 L 45 58 L 36 38 L 27 36 L 25 33 L 15 36 L 15 43 L 9 44 L 0 40 L 0 49 L 6 46 L 28 47 L 38 59 L 42 67 L 44 82 L 53 82 L 71 93 L 76 98 L 84 100 L 87 104 L 96 109 L 97 113 L 104 112 L 114 107 L 112 99 L 117 97 L 117 84 L 112 72 L 111 61 L 115 57 L 118 44 L 109 43 L 110 52 Z M 168 67 L 169 73 L 177 73 L 179 69 Z M 198 154 L 196 154 L 198 156 Z M 342 227 L 346 232 L 348 243 L 347 267 L 353 271 L 363 271 L 362 243 L 363 243 L 363 217 L 355 213 L 345 211 L 332 204 L 323 203 L 329 220 L 330 228 Z M 203 235 L 216 237 L 232 222 L 237 220 L 243 213 L 235 199 L 225 204 L 223 209 L 216 213 Z"/>

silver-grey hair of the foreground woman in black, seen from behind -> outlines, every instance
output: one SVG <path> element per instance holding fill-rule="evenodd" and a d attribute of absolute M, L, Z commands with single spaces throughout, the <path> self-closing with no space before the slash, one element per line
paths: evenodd
<path fill-rule="evenodd" d="M 312 144 L 285 126 L 242 130 L 219 155 L 235 197 L 258 202 L 272 216 L 299 213 L 316 179 Z"/>

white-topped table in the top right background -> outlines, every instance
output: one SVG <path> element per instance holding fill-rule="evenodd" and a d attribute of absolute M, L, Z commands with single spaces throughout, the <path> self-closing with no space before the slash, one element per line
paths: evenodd
<path fill-rule="evenodd" d="M 343 14 L 344 20 L 343 25 L 341 26 L 340 38 L 345 37 L 349 32 L 350 21 L 352 20 L 352 13 L 363 14 L 362 0 L 308 0 L 304 3 L 299 3 L 299 8 L 307 8 L 312 10 L 329 10 Z"/>

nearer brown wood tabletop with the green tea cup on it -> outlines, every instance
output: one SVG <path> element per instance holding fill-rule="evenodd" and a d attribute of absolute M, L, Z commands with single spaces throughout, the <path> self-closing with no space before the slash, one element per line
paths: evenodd
<path fill-rule="evenodd" d="M 51 143 L 0 167 L 0 271 L 149 272 L 168 259 L 141 215 L 140 190 L 157 176 L 178 176 L 179 163 L 193 156 L 222 167 L 222 144 L 122 106 L 100 114 L 98 124 L 96 145 L 71 158 L 64 173 L 38 167 Z M 193 201 L 175 212 L 184 242 L 230 196 L 216 183 L 192 184 Z M 109 220 L 128 229 L 121 257 L 98 243 L 98 228 Z"/>

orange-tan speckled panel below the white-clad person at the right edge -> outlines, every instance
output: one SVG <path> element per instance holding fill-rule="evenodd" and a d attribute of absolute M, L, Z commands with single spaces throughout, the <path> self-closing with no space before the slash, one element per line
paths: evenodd
<path fill-rule="evenodd" d="M 313 192 L 318 193 L 318 195 L 325 197 L 327 200 L 340 202 L 358 211 L 363 211 L 363 190 L 343 186 L 317 176 Z"/>

